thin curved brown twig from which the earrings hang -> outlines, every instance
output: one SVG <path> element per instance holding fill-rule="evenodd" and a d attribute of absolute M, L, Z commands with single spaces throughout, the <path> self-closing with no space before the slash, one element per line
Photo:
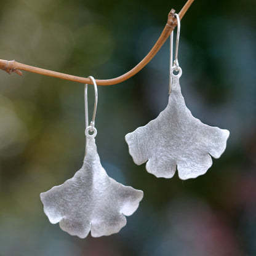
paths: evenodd
<path fill-rule="evenodd" d="M 193 1 L 194 0 L 188 0 L 185 6 L 183 6 L 182 10 L 180 10 L 180 13 L 178 14 L 180 16 L 180 20 L 183 18 L 183 16 L 191 6 Z M 150 50 L 150 52 L 146 55 L 145 58 L 143 58 L 143 60 L 140 63 L 138 63 L 137 66 L 132 68 L 132 70 L 128 71 L 127 73 L 122 74 L 122 76 L 118 76 L 118 78 L 106 79 L 106 80 L 96 79 L 95 81 L 97 82 L 97 85 L 110 86 L 113 84 L 118 84 L 119 82 L 126 81 L 127 79 L 137 74 L 138 71 L 142 70 L 142 68 L 146 66 L 146 64 L 148 64 L 150 60 L 152 60 L 154 55 L 156 55 L 156 53 L 162 47 L 166 39 L 170 36 L 170 33 L 172 33 L 172 31 L 174 30 L 175 26 L 177 26 L 174 13 L 175 13 L 174 9 L 170 10 L 170 13 L 167 19 L 167 24 L 164 27 L 164 30 L 162 31 L 161 36 L 159 37 L 158 41 L 153 46 L 153 48 Z M 64 74 L 64 73 L 59 73 L 51 70 L 44 70 L 42 68 L 37 68 L 35 66 L 29 66 L 23 63 L 15 62 L 15 60 L 8 61 L 8 60 L 0 59 L 0 69 L 6 71 L 9 74 L 17 73 L 22 75 L 22 71 L 20 70 L 24 70 L 24 71 L 29 71 L 36 74 L 44 74 L 46 76 L 52 76 L 54 78 L 61 78 L 61 79 L 66 79 L 74 82 L 81 82 L 83 84 L 92 84 L 92 81 L 89 78 L 82 78 L 79 76 L 73 76 L 71 74 Z"/>

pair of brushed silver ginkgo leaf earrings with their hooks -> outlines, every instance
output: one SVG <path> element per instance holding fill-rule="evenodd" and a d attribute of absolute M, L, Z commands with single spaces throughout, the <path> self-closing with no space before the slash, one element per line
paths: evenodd
<path fill-rule="evenodd" d="M 156 119 L 146 126 L 138 127 L 125 138 L 135 164 L 146 162 L 148 172 L 164 178 L 171 178 L 177 167 L 178 176 L 185 180 L 198 177 L 209 169 L 212 165 L 210 155 L 220 157 L 225 151 L 230 133 L 228 130 L 203 124 L 186 108 L 179 83 L 182 69 L 177 58 L 180 20 L 175 15 L 178 31 L 175 60 L 170 68 L 169 103 Z M 170 41 L 172 43 L 172 38 Z M 100 163 L 95 144 L 97 84 L 92 76 L 89 78 L 94 84 L 95 104 L 89 124 L 86 84 L 84 163 L 73 178 L 40 195 L 50 222 L 59 222 L 62 230 L 79 238 L 86 238 L 89 232 L 94 237 L 118 233 L 126 225 L 125 215 L 132 215 L 143 198 L 143 191 L 116 182 L 106 174 Z"/>

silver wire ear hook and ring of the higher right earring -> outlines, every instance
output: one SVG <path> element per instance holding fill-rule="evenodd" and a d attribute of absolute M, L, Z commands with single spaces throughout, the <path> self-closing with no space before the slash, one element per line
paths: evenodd
<path fill-rule="evenodd" d="M 170 79 L 169 79 L 169 94 L 172 92 L 172 79 L 175 77 L 180 78 L 182 75 L 182 68 L 180 68 L 178 64 L 178 44 L 180 41 L 180 17 L 178 14 L 174 14 L 177 18 L 177 36 L 176 36 L 176 45 L 175 45 L 175 57 L 174 62 L 172 62 L 173 58 L 173 48 L 174 48 L 174 31 L 170 34 Z M 174 74 L 173 72 L 178 71 L 178 74 Z"/>

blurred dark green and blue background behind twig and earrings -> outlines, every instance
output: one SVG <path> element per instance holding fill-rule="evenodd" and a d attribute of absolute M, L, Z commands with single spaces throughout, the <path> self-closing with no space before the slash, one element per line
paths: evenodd
<path fill-rule="evenodd" d="M 1 0 L 0 58 L 98 79 L 148 53 L 184 1 Z M 167 105 L 169 42 L 126 82 L 98 87 L 97 146 L 108 174 L 144 191 L 118 234 L 79 239 L 49 223 L 39 193 L 84 156 L 84 86 L 0 72 L 1 256 L 256 255 L 255 0 L 195 0 L 182 20 L 182 92 L 193 115 L 231 132 L 205 175 L 156 178 L 124 135 Z M 94 93 L 90 89 L 90 110 Z"/>

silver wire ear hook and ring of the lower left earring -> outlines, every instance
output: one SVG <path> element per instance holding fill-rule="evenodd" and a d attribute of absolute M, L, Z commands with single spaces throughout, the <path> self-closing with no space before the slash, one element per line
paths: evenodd
<path fill-rule="evenodd" d="M 94 77 L 89 76 L 89 78 L 94 83 L 94 94 L 95 94 L 95 100 L 94 100 L 94 112 L 92 114 L 92 121 L 88 121 L 88 94 L 87 94 L 87 87 L 88 84 L 84 86 L 84 110 L 85 110 L 85 116 L 86 116 L 86 137 L 95 137 L 97 135 L 97 129 L 95 128 L 95 116 L 97 111 L 97 104 L 98 104 L 98 90 L 97 90 L 97 84 L 94 79 Z M 92 134 L 89 134 L 89 132 L 92 132 Z"/>

